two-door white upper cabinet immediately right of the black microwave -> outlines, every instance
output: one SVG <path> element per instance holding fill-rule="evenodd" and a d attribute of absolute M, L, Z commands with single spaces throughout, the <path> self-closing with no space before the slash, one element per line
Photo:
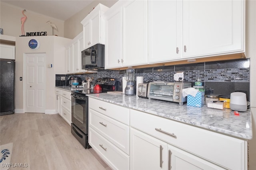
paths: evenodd
<path fill-rule="evenodd" d="M 104 13 L 106 69 L 148 63 L 147 4 L 120 0 Z"/>

